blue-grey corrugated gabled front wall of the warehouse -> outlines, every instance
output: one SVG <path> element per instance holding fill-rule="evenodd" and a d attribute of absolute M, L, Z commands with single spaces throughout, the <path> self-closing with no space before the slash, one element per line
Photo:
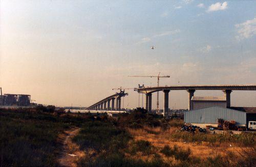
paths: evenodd
<path fill-rule="evenodd" d="M 246 113 L 220 106 L 190 110 L 184 113 L 185 123 L 216 124 L 218 119 L 236 121 L 237 125 L 246 125 Z"/>

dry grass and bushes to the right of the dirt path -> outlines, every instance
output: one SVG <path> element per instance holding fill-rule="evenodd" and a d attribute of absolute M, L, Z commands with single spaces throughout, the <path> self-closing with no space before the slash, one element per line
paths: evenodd
<path fill-rule="evenodd" d="M 78 166 L 252 166 L 256 162 L 253 133 L 181 132 L 182 120 L 167 120 L 169 128 L 163 131 L 166 120 L 161 118 L 138 113 L 123 117 L 117 126 L 105 121 L 82 127 L 73 139 L 82 152 Z"/>

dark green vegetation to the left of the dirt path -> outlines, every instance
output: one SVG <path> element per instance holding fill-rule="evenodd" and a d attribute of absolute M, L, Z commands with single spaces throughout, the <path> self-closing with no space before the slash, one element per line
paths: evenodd
<path fill-rule="evenodd" d="M 0 166 L 56 166 L 58 134 L 84 120 L 90 117 L 1 109 Z"/>

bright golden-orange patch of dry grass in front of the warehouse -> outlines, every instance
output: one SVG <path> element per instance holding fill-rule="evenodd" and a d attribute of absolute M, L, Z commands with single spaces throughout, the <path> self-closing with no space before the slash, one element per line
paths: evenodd
<path fill-rule="evenodd" d="M 216 156 L 217 154 L 226 155 L 227 152 L 237 154 L 242 151 L 242 148 L 235 146 L 235 144 L 223 143 L 218 145 L 210 145 L 209 143 L 185 143 L 185 142 L 173 142 L 170 140 L 169 135 L 176 131 L 177 128 L 170 128 L 169 131 L 161 131 L 159 127 L 157 128 L 148 128 L 144 127 L 143 129 L 128 129 L 129 132 L 134 136 L 135 140 L 145 140 L 151 142 L 152 145 L 157 149 L 157 153 L 164 157 L 164 159 L 173 159 L 167 158 L 162 153 L 160 149 L 168 145 L 169 147 L 174 147 L 175 145 L 181 147 L 182 149 L 191 150 L 191 155 L 200 158 L 207 158 L 209 156 Z"/>

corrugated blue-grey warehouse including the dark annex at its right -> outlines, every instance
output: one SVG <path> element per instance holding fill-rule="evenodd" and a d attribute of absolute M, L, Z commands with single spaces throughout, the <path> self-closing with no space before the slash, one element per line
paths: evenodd
<path fill-rule="evenodd" d="M 222 106 L 193 109 L 184 113 L 184 122 L 205 128 L 206 125 L 218 126 L 218 119 L 236 121 L 236 126 L 248 127 L 249 121 L 256 121 L 256 108 L 250 112 Z"/>

